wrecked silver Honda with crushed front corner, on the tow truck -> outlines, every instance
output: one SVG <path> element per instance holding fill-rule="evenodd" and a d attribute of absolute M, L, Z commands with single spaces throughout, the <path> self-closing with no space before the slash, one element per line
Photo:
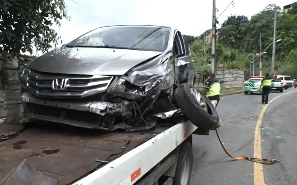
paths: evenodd
<path fill-rule="evenodd" d="M 197 108 L 187 105 L 188 110 L 181 110 L 191 122 L 208 122 L 203 130 L 218 124 L 213 105 L 193 86 L 189 47 L 180 31 L 171 27 L 97 28 L 35 59 L 19 81 L 22 122 L 148 130 L 157 123 L 154 117 L 170 117 L 178 108 L 185 109 L 180 102 L 194 102 Z M 180 93 L 175 93 L 178 88 Z M 177 98 L 183 101 L 174 101 Z"/>

